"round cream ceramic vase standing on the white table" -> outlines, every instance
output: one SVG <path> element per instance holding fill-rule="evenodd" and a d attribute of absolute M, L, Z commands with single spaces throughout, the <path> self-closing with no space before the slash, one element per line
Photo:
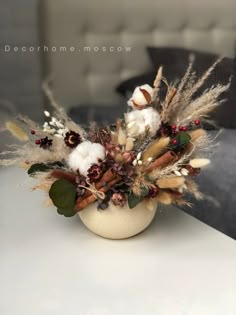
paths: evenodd
<path fill-rule="evenodd" d="M 145 202 L 133 209 L 128 204 L 117 207 L 110 203 L 106 210 L 97 210 L 96 204 L 91 204 L 79 212 L 79 216 L 93 233 L 108 239 L 124 239 L 146 229 L 154 219 L 156 208 L 148 209 Z"/>

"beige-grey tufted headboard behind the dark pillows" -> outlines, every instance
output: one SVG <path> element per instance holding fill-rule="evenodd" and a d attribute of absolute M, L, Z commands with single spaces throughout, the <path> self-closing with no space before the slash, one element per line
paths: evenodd
<path fill-rule="evenodd" d="M 43 0 L 41 12 L 43 44 L 57 47 L 43 54 L 44 76 L 53 75 L 56 97 L 67 108 L 117 104 L 115 86 L 150 68 L 147 45 L 234 55 L 235 0 Z M 67 52 L 58 52 L 61 46 Z"/>

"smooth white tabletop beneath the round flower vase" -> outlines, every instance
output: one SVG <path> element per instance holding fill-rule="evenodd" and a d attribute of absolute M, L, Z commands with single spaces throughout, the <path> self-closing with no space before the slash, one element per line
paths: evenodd
<path fill-rule="evenodd" d="M 0 169 L 1 315 L 236 314 L 233 239 L 175 208 L 134 238 L 102 239 L 26 183 Z"/>

